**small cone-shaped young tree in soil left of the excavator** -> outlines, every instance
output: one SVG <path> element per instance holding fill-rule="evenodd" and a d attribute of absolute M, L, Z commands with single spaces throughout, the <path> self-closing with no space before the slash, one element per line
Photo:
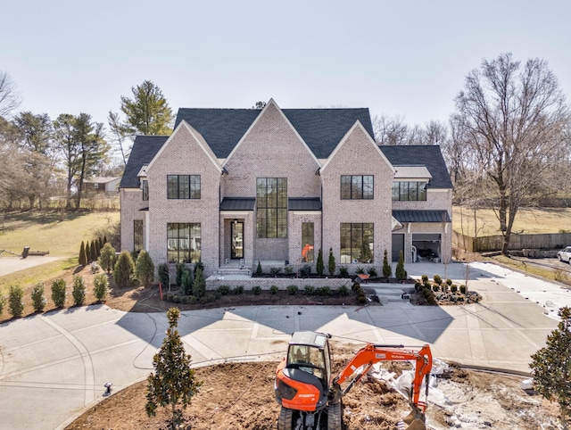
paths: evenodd
<path fill-rule="evenodd" d="M 198 393 L 203 383 L 195 380 L 194 369 L 190 368 L 192 357 L 186 354 L 176 329 L 180 310 L 170 308 L 167 310 L 167 318 L 167 335 L 162 341 L 161 351 L 153 357 L 154 374 L 146 379 L 145 409 L 149 417 L 154 417 L 158 407 L 170 405 L 170 426 L 174 429 L 183 423 L 183 410 L 190 405 L 192 397 Z"/>

